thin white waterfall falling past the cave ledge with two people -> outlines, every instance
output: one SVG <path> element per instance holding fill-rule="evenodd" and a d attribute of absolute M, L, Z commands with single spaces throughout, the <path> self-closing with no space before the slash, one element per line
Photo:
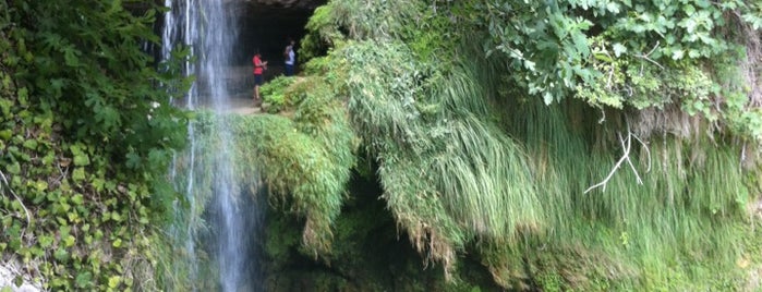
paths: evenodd
<path fill-rule="evenodd" d="M 258 291 L 256 234 L 261 220 L 250 190 L 235 175 L 235 137 L 225 110 L 231 107 L 229 68 L 238 42 L 232 1 L 166 0 L 161 56 L 169 59 L 178 45 L 188 47 L 194 62 L 185 62 L 196 76 L 186 97 L 176 105 L 211 111 L 214 142 L 189 123 L 189 149 L 176 155 L 170 177 L 184 194 L 176 204 L 170 235 L 178 258 L 172 272 L 185 277 L 189 288 L 168 290 Z M 204 139 L 207 139 L 206 142 Z M 215 147 L 208 147 L 209 144 Z"/>

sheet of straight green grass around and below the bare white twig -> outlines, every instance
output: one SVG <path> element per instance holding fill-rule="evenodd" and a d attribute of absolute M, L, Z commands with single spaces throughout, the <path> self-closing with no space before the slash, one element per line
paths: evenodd
<path fill-rule="evenodd" d="M 605 191 L 585 194 L 620 159 L 613 136 L 627 123 L 609 115 L 613 125 L 578 129 L 567 118 L 580 114 L 577 106 L 510 106 L 517 110 L 507 125 L 527 145 L 552 228 L 519 245 L 482 246 L 483 261 L 504 287 L 527 288 L 537 279 L 559 290 L 593 291 L 746 285 L 737 263 L 753 257 L 748 241 L 758 235 L 742 219 L 753 196 L 740 147 L 666 132 L 643 137 L 649 151 L 638 143 L 630 154 L 638 175 L 625 166 Z"/>

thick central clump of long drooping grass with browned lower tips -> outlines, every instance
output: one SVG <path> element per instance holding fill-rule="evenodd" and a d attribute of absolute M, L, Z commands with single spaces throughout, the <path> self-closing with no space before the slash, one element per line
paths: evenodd
<path fill-rule="evenodd" d="M 420 251 L 449 269 L 453 251 L 474 236 L 510 243 L 517 230 L 540 228 L 528 158 L 488 119 L 489 92 L 473 82 L 474 68 L 436 71 L 385 42 L 343 53 L 353 125 L 378 157 L 389 209 Z M 383 60 L 396 61 L 378 66 Z"/>

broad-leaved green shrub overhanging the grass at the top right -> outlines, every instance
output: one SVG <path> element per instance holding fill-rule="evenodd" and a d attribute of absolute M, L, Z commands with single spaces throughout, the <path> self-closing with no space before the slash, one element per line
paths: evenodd
<path fill-rule="evenodd" d="M 513 86 L 525 94 L 546 104 L 577 96 L 617 108 L 672 100 L 675 96 L 631 98 L 633 90 L 653 93 L 664 75 L 643 71 L 680 71 L 724 56 L 737 47 L 726 33 L 735 19 L 754 29 L 762 21 L 760 3 L 740 0 L 462 1 L 455 7 L 469 15 L 459 23 L 465 32 L 487 32 L 485 54 L 505 59 Z M 615 81 L 621 86 L 612 86 Z"/>

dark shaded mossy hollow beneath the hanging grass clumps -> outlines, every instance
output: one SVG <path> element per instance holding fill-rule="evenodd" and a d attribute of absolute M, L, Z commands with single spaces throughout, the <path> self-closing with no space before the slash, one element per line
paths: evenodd
<path fill-rule="evenodd" d="M 317 261 L 292 241 L 300 221 L 271 209 L 267 232 L 278 235 L 266 241 L 268 291 L 499 291 L 479 263 L 463 260 L 456 283 L 445 279 L 440 265 L 424 266 L 399 236 L 374 181 L 354 175 L 336 219 L 332 252 Z M 277 240 L 283 236 L 291 243 Z"/>

